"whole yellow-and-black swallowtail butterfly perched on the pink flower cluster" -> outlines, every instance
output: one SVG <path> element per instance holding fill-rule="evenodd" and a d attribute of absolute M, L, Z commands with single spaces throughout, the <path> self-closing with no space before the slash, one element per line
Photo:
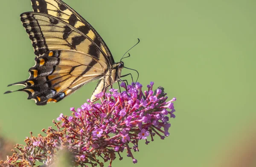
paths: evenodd
<path fill-rule="evenodd" d="M 20 14 L 34 49 L 35 66 L 23 85 L 37 105 L 58 102 L 84 84 L 99 80 L 90 100 L 119 81 L 124 63 L 81 15 L 61 0 L 31 0 L 33 12 Z M 5 93 L 16 92 L 7 91 Z"/>

